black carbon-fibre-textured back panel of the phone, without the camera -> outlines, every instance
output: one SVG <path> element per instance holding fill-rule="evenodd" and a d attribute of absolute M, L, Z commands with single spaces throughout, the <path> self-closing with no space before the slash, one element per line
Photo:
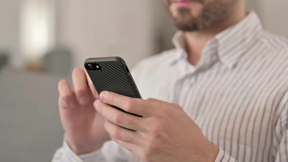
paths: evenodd
<path fill-rule="evenodd" d="M 90 61 L 93 62 L 93 61 Z M 124 96 L 139 97 L 129 81 L 125 68 L 119 61 L 97 61 L 101 71 L 87 71 L 97 92 L 115 92 Z"/>

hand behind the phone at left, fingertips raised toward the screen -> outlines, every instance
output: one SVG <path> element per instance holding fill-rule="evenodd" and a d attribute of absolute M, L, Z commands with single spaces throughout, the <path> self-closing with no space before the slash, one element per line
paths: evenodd
<path fill-rule="evenodd" d="M 104 118 L 93 106 L 99 95 L 87 73 L 75 68 L 73 89 L 66 80 L 59 81 L 59 110 L 65 140 L 78 155 L 95 151 L 110 140 L 104 129 Z"/>

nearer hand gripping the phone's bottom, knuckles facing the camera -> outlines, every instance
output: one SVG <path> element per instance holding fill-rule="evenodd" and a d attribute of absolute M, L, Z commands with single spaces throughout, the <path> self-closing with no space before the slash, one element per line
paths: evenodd
<path fill-rule="evenodd" d="M 124 113 L 110 105 L 143 118 Z M 205 138 L 200 128 L 177 104 L 102 92 L 94 106 L 106 118 L 104 126 L 112 140 L 145 162 L 216 160 L 219 148 Z"/>

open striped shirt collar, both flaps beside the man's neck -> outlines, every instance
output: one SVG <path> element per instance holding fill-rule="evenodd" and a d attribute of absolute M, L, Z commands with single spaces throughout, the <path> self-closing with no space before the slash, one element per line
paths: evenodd
<path fill-rule="evenodd" d="M 254 11 L 240 22 L 217 34 L 212 40 L 218 42 L 218 57 L 226 66 L 233 67 L 240 57 L 258 40 L 263 30 L 260 19 Z M 211 40 L 211 41 L 212 41 Z M 187 58 L 184 33 L 178 31 L 173 37 L 177 53 L 171 59 L 171 64 Z"/>

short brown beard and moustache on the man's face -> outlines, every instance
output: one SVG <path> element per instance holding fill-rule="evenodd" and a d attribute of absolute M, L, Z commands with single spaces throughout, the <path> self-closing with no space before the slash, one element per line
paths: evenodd
<path fill-rule="evenodd" d="M 197 2 L 203 5 L 203 9 L 197 16 L 192 15 L 192 9 L 189 7 L 179 7 L 177 8 L 177 16 L 173 16 L 171 11 L 170 15 L 173 18 L 175 26 L 181 31 L 193 32 L 203 30 L 212 23 L 225 20 L 235 1 L 213 0 L 212 2 L 208 1 L 205 3 L 204 0 L 198 0 Z M 169 10 L 172 4 L 171 0 L 166 0 L 166 4 Z"/>

